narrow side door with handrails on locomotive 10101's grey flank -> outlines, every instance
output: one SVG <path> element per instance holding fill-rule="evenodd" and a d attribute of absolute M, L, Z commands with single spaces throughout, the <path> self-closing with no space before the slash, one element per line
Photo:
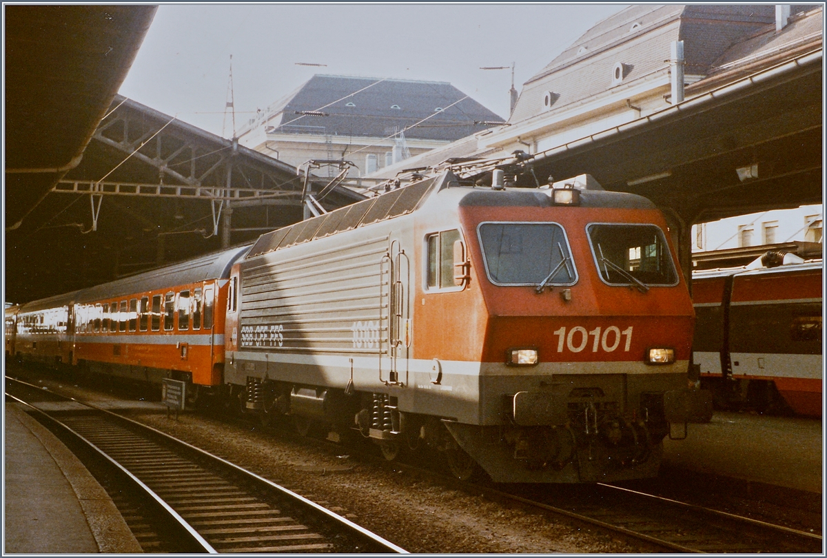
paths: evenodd
<path fill-rule="evenodd" d="M 379 375 L 385 384 L 408 383 L 410 323 L 410 260 L 399 246 L 390 250 L 381 263 Z"/>

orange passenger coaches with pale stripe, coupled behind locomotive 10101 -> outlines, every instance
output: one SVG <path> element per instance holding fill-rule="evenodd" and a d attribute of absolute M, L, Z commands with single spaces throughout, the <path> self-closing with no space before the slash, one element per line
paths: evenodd
<path fill-rule="evenodd" d="M 228 275 L 249 248 L 24 304 L 14 353 L 151 383 L 174 378 L 221 386 Z"/>

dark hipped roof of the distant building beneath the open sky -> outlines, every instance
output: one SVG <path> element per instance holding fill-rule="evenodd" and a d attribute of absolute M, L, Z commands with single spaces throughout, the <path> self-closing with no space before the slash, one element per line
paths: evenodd
<path fill-rule="evenodd" d="M 281 114 L 268 126 L 276 126 L 281 133 L 385 137 L 430 117 L 405 130 L 405 136 L 454 141 L 489 127 L 475 122 L 503 122 L 474 99 L 464 97 L 465 93 L 447 82 L 314 75 L 270 107 L 270 113 Z M 308 111 L 324 116 L 301 114 Z"/>

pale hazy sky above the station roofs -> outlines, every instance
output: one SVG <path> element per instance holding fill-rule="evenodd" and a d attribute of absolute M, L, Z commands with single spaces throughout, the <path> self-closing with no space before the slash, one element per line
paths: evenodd
<path fill-rule="evenodd" d="M 120 93 L 232 137 L 313 74 L 452 83 L 508 117 L 514 84 L 626 4 L 161 4 Z M 299 64 L 326 64 L 307 66 Z M 484 70 L 480 67 L 508 66 Z"/>

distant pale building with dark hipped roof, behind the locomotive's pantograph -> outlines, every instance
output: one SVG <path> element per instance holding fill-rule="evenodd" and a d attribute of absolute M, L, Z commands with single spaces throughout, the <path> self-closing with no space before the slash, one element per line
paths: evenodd
<path fill-rule="evenodd" d="M 496 123 L 451 83 L 317 74 L 247 121 L 238 141 L 295 167 L 350 160 L 348 176 L 360 177 Z"/>

